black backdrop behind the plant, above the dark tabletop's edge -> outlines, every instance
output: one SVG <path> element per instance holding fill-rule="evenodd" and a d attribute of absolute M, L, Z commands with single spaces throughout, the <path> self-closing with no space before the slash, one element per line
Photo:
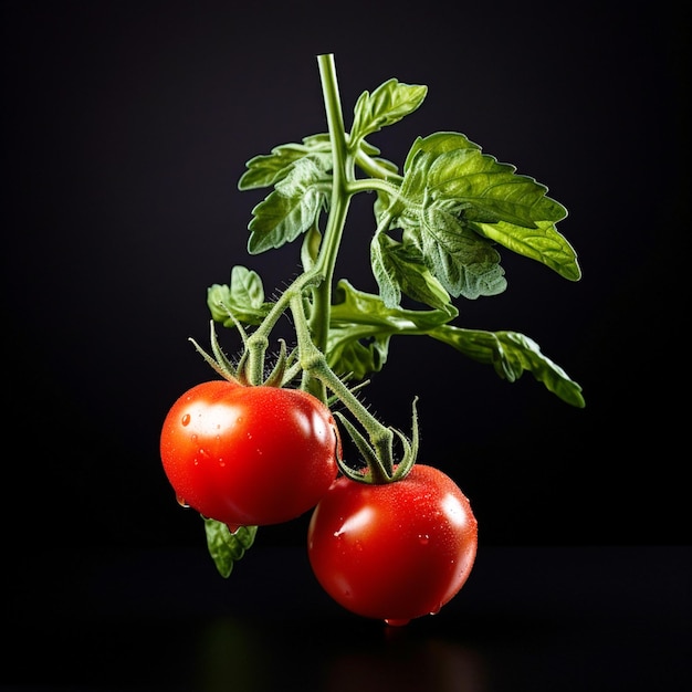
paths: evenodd
<path fill-rule="evenodd" d="M 547 185 L 584 271 L 505 252 L 506 293 L 458 323 L 537 340 L 586 409 L 422 338 L 392 340 L 373 409 L 407 429 L 420 396 L 421 461 L 470 496 L 484 545 L 688 543 L 689 34 L 670 6 L 2 2 L 6 545 L 200 545 L 160 423 L 213 376 L 187 340 L 207 342 L 207 287 L 233 264 L 270 293 L 297 271 L 297 244 L 247 255 L 260 197 L 235 186 L 325 132 L 324 52 L 347 126 L 363 91 L 428 85 L 371 138 L 387 158 L 450 129 Z M 371 290 L 354 213 L 337 273 Z"/>

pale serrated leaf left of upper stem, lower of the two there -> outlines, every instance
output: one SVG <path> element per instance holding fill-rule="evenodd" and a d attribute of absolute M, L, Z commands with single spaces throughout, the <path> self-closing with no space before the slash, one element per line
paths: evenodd
<path fill-rule="evenodd" d="M 281 248 L 317 221 L 327 200 L 326 188 L 319 184 L 331 180 L 326 172 L 331 165 L 331 156 L 311 155 L 290 166 L 274 191 L 252 210 L 250 254 Z"/>

